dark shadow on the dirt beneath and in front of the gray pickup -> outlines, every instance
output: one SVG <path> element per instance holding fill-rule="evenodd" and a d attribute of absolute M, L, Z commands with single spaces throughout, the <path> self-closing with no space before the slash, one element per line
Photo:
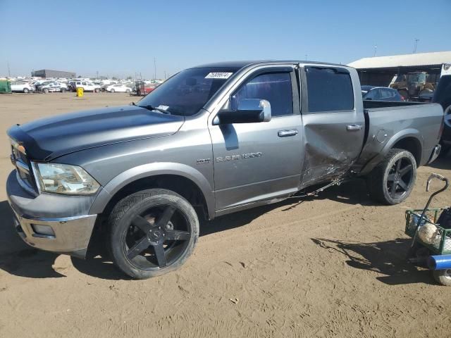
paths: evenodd
<path fill-rule="evenodd" d="M 338 187 L 331 187 L 319 193 L 318 196 L 292 198 L 277 204 L 252 208 L 247 211 L 240 211 L 219 217 L 211 222 L 201 220 L 200 236 L 245 226 L 275 208 L 280 208 L 280 212 L 285 212 L 297 208 L 297 206 L 300 206 L 305 201 L 322 199 L 332 199 L 345 204 L 372 204 L 369 196 L 366 194 L 364 181 L 352 180 Z M 12 222 L 13 213 L 7 201 L 0 202 L 0 217 L 3 219 L 3 226 L 0 227 L 1 270 L 11 275 L 30 278 L 66 277 L 54 268 L 55 259 L 58 257 L 58 254 L 32 249 L 23 243 L 22 239 L 16 234 Z M 129 279 L 117 270 L 111 262 L 111 258 L 105 247 L 104 237 L 100 233 L 96 233 L 91 244 L 89 244 L 86 260 L 71 258 L 71 261 L 74 268 L 86 275 L 106 280 Z"/>

